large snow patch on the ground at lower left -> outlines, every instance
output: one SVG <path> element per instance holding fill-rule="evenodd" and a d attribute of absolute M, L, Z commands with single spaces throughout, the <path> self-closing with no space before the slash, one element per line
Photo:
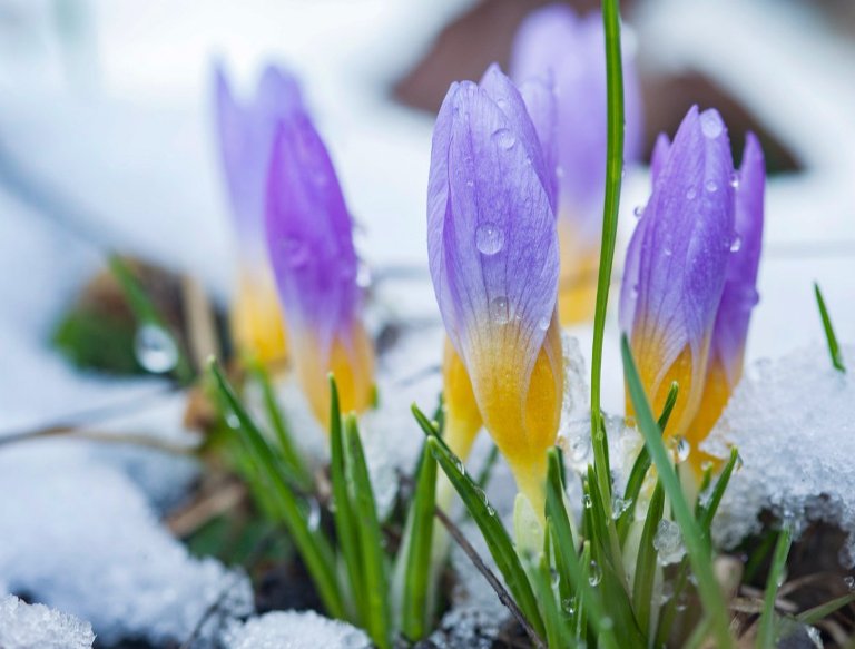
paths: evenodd
<path fill-rule="evenodd" d="M 99 638 L 184 641 L 253 611 L 243 572 L 194 559 L 122 472 L 75 442 L 0 453 L 0 584 L 92 623 Z"/>

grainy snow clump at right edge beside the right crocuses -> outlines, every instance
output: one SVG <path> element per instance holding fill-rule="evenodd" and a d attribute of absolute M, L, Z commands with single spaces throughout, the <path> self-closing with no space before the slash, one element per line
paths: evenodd
<path fill-rule="evenodd" d="M 843 348 L 855 363 L 855 347 Z M 761 529 L 769 510 L 796 531 L 810 521 L 848 538 L 841 563 L 855 564 L 855 381 L 832 367 L 824 345 L 755 363 L 737 386 L 705 448 L 739 450 L 743 466 L 725 492 L 714 537 L 729 548 Z"/>

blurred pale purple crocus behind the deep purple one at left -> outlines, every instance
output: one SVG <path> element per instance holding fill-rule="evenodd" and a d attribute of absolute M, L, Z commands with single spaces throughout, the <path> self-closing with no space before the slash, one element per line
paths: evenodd
<path fill-rule="evenodd" d="M 286 351 L 265 243 L 265 184 L 276 121 L 301 106 L 296 81 L 277 68 L 264 70 L 246 104 L 236 100 L 223 69 L 216 70 L 219 148 L 240 265 L 232 331 L 242 352 L 263 361 L 282 360 Z"/>

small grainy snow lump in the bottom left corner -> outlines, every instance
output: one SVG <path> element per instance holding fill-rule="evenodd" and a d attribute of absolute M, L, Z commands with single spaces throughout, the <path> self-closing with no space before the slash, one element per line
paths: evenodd
<path fill-rule="evenodd" d="M 0 597 L 0 647 L 3 649 L 89 649 L 92 626 L 73 616 Z"/>

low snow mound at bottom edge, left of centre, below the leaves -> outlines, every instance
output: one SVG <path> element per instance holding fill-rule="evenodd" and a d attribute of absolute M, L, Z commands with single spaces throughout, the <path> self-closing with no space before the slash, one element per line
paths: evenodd
<path fill-rule="evenodd" d="M 232 626 L 224 649 L 368 649 L 368 637 L 345 622 L 314 611 L 276 611 Z"/>

